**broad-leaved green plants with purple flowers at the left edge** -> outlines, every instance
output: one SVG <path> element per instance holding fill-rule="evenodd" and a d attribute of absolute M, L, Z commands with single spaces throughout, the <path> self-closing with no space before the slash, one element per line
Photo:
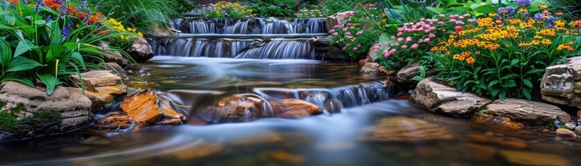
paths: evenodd
<path fill-rule="evenodd" d="M 42 82 L 51 95 L 60 80 L 102 62 L 95 44 L 108 37 L 96 35 L 98 26 L 64 12 L 47 7 L 39 11 L 44 15 L 23 4 L 0 8 L 0 82 L 13 80 L 29 86 Z"/>

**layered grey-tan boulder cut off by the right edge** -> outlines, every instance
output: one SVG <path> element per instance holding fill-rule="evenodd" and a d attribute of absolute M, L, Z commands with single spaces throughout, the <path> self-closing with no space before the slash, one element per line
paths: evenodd
<path fill-rule="evenodd" d="M 541 80 L 543 100 L 581 108 L 581 57 L 548 66 Z"/>

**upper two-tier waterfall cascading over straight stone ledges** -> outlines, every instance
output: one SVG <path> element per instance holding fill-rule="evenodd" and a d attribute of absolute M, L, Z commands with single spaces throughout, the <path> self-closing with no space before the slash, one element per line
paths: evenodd
<path fill-rule="evenodd" d="M 155 55 L 238 59 L 315 59 L 313 38 L 325 19 L 176 19 L 178 37 L 151 41 Z"/>

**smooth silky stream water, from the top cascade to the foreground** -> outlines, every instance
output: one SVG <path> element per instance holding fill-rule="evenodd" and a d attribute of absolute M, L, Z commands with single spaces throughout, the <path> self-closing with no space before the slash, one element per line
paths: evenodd
<path fill-rule="evenodd" d="M 314 60 L 312 38 L 301 37 L 321 33 L 322 23 L 177 20 L 175 27 L 190 34 L 152 41 L 157 56 L 129 74 L 127 83 L 190 106 L 182 108 L 188 124 L 109 133 L 80 129 L 10 142 L 0 145 L 0 165 L 510 165 L 501 155 L 507 150 L 580 163 L 573 157 L 581 149 L 576 140 L 535 127 L 502 131 L 440 116 L 395 100 L 406 91 L 378 82 L 384 77 L 359 74 L 355 62 Z M 267 102 L 300 98 L 324 113 L 298 120 L 267 113 L 247 122 L 203 116 L 218 100 L 248 93 Z M 119 110 L 114 105 L 111 111 Z"/>

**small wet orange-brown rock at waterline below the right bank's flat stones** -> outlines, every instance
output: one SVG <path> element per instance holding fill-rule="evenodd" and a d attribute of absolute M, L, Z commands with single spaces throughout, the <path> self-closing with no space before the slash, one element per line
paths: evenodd
<path fill-rule="evenodd" d="M 474 113 L 474 115 L 472 115 L 470 118 L 470 122 L 473 122 L 478 126 L 485 125 L 494 129 L 520 130 L 524 128 L 524 124 L 519 122 L 512 122 L 510 118 L 502 116 L 491 116 L 485 113 Z"/>

